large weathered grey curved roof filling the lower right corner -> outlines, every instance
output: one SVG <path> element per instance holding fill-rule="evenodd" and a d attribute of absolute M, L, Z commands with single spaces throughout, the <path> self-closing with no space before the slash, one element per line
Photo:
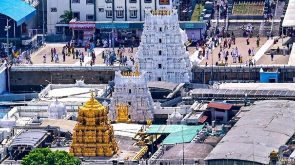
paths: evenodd
<path fill-rule="evenodd" d="M 295 101 L 290 100 L 256 101 L 250 107 L 242 107 L 241 110 L 245 111 L 242 117 L 206 160 L 232 159 L 269 164 L 269 153 L 286 144 L 294 134 L 294 107 Z"/>

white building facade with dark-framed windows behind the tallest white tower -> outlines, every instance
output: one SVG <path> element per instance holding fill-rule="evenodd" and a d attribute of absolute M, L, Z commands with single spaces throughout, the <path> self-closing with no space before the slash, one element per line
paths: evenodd
<path fill-rule="evenodd" d="M 67 33 L 68 24 L 60 22 L 65 10 L 72 10 L 78 21 L 143 21 L 145 10 L 170 10 L 172 0 L 47 0 L 48 35 Z"/>

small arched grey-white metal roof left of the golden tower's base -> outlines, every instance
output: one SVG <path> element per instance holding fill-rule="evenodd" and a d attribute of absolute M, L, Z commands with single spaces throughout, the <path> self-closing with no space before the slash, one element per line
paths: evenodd
<path fill-rule="evenodd" d="M 9 147 L 27 145 L 35 147 L 35 145 L 45 136 L 46 130 L 27 130 L 21 132 L 9 145 Z"/>

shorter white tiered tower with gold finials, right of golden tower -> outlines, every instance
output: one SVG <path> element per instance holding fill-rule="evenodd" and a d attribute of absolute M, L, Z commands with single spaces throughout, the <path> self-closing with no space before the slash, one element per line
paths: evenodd
<path fill-rule="evenodd" d="M 139 73 L 138 63 L 136 68 L 135 73 L 116 72 L 113 98 L 108 113 L 111 121 L 116 121 L 118 117 L 118 104 L 130 105 L 128 113 L 131 122 L 143 123 L 154 119 L 153 99 L 148 89 L 146 73 Z"/>

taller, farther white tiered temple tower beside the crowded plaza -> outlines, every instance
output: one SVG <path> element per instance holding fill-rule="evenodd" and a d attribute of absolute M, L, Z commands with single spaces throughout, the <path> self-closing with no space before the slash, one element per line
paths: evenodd
<path fill-rule="evenodd" d="M 177 10 L 145 12 L 138 47 L 140 70 L 149 81 L 189 82 L 192 78 L 185 31 L 179 28 Z"/>

